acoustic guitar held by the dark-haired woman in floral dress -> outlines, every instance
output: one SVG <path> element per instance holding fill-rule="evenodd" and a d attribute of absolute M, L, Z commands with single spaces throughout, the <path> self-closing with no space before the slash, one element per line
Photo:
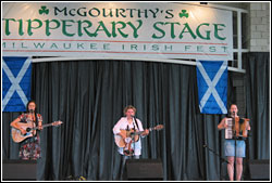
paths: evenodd
<path fill-rule="evenodd" d="M 52 123 L 44 125 L 42 127 L 46 128 L 46 127 L 60 126 L 60 125 L 62 125 L 62 121 L 59 120 L 59 121 L 54 121 Z M 20 126 L 20 128 L 23 128 L 26 131 L 26 133 L 22 134 L 21 130 L 12 127 L 11 128 L 12 140 L 16 143 L 20 143 L 27 138 L 32 138 L 33 135 L 36 134 L 36 130 L 38 129 L 38 127 L 36 127 L 35 123 L 33 127 L 32 123 L 18 122 L 18 126 Z"/>

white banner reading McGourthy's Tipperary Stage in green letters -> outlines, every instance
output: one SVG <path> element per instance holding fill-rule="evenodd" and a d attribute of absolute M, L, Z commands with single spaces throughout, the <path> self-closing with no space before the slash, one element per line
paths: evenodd
<path fill-rule="evenodd" d="M 3 2 L 5 56 L 233 60 L 232 11 L 183 2 Z"/>

